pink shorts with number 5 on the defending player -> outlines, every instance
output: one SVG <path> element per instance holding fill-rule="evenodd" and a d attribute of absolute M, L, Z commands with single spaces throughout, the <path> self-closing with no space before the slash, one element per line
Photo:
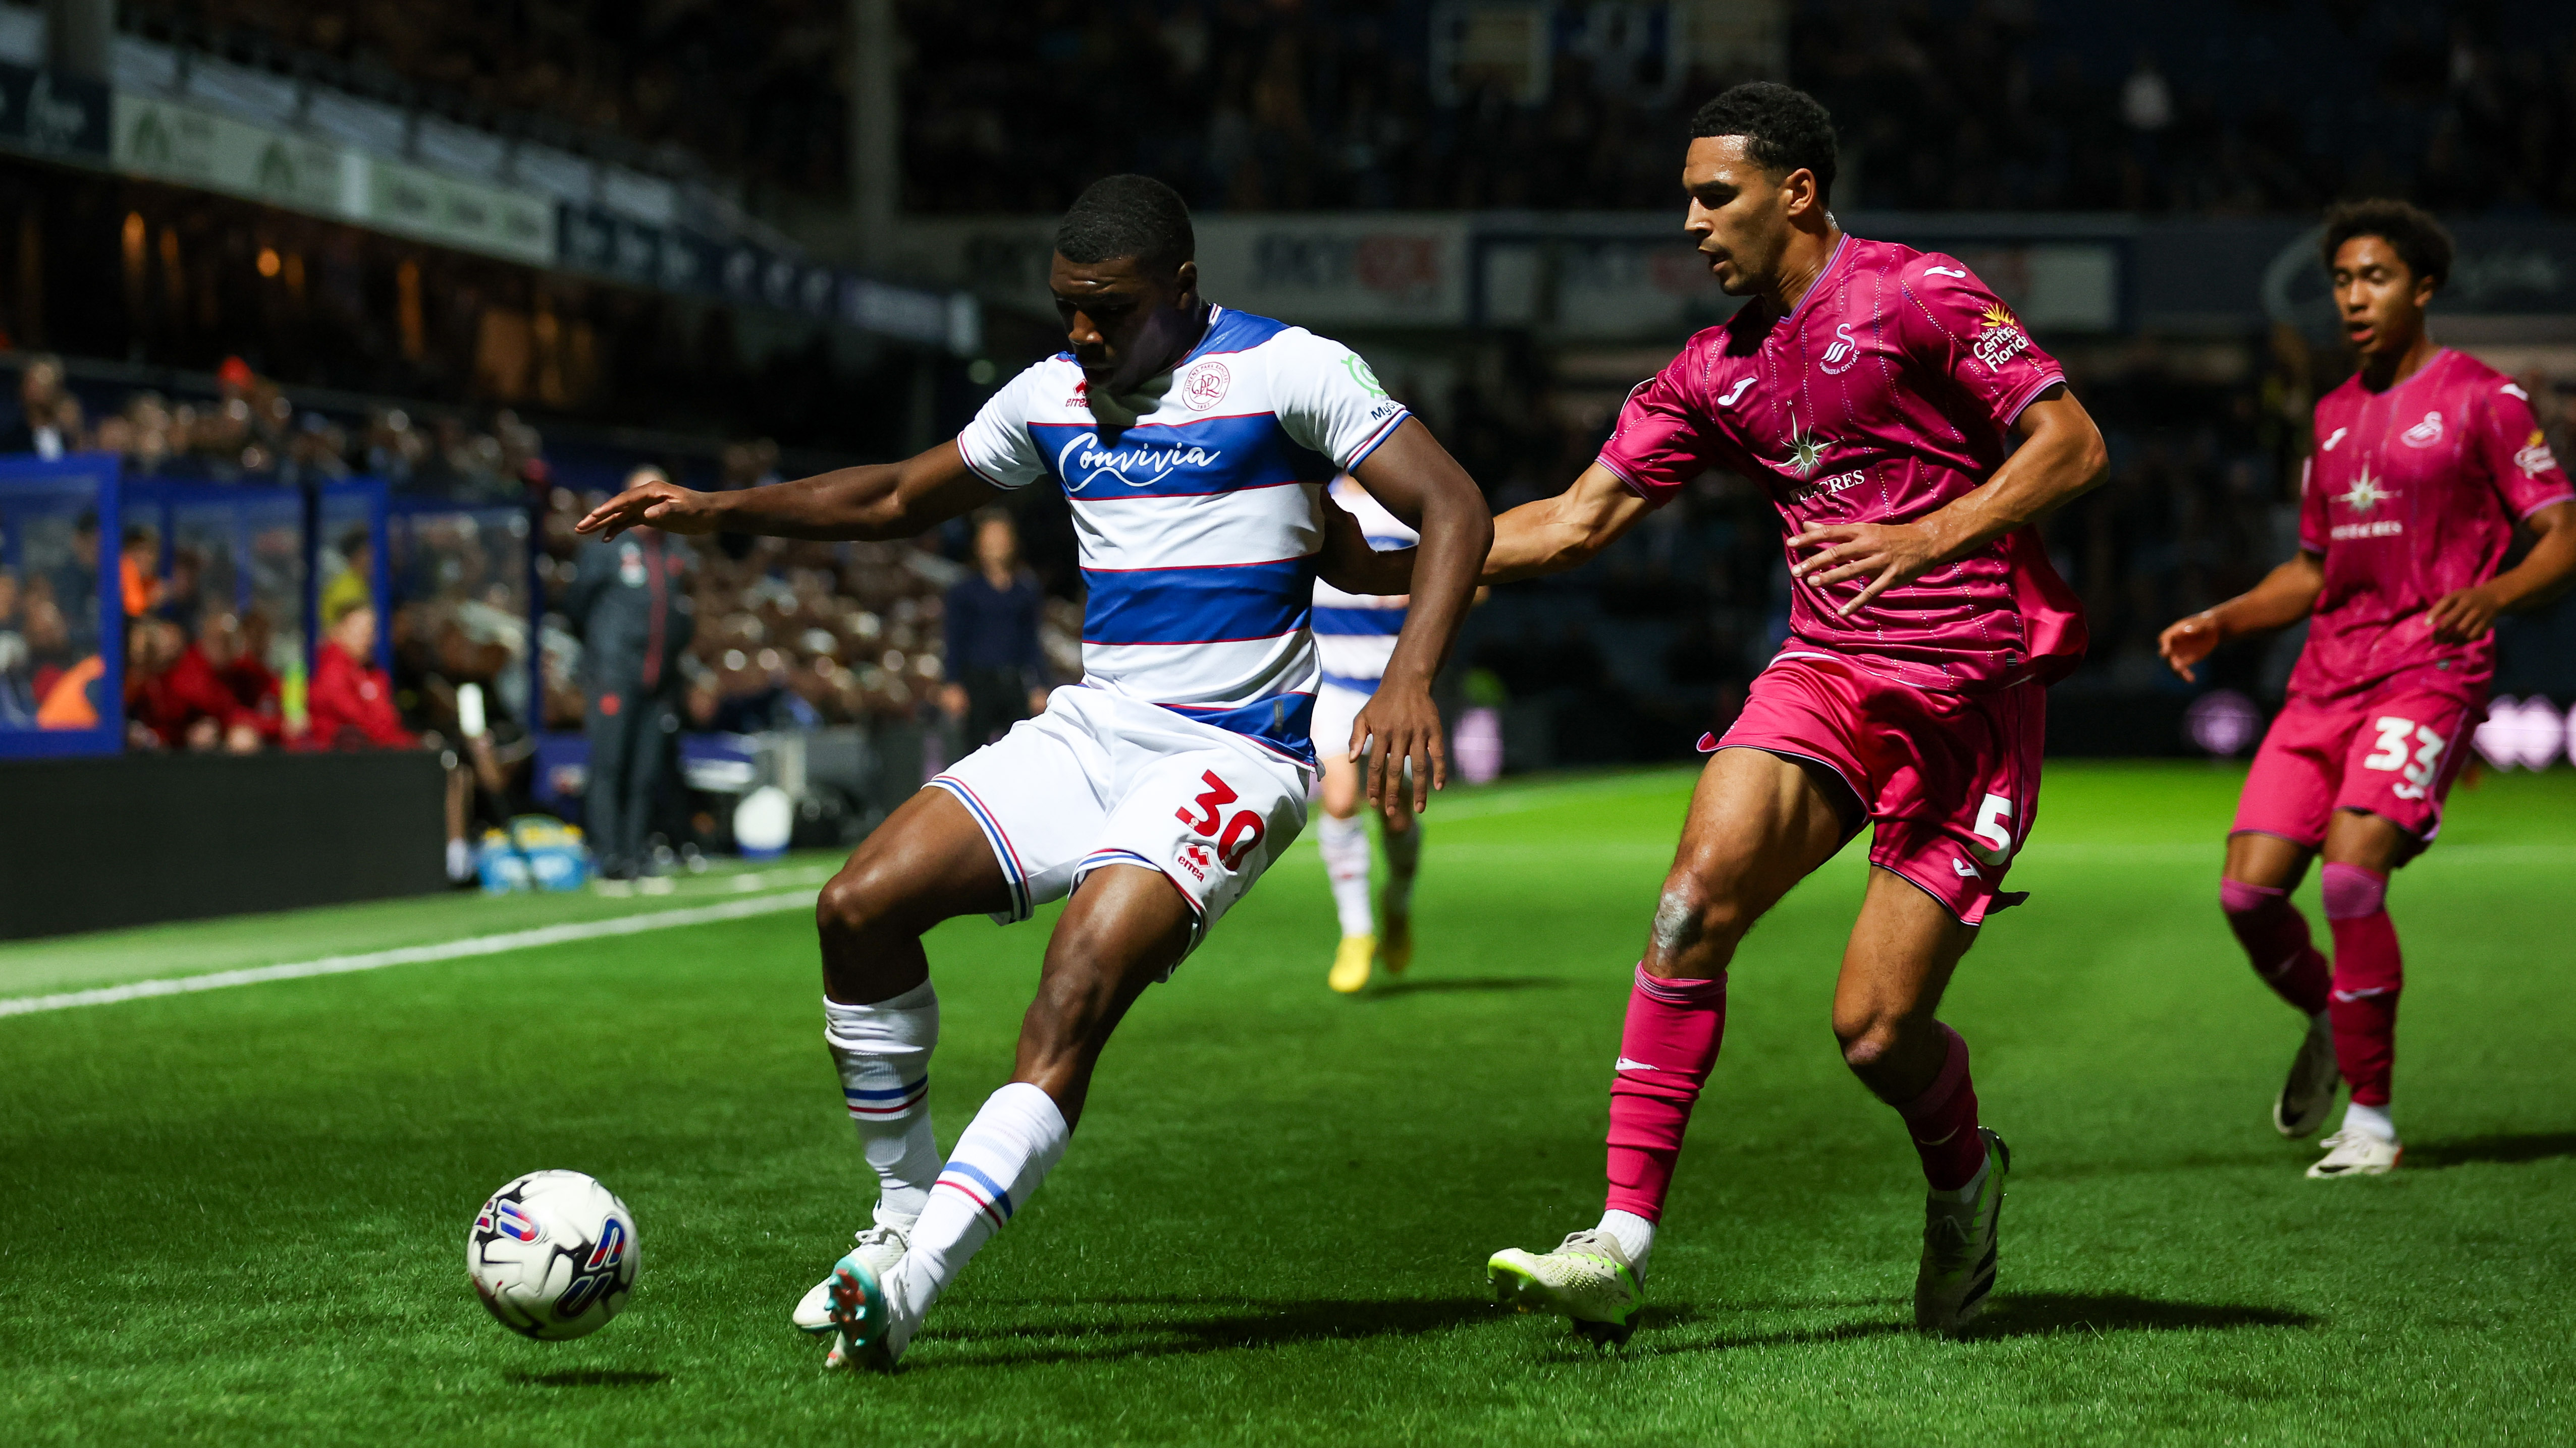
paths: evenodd
<path fill-rule="evenodd" d="M 1826 765 L 1875 822 L 1870 863 L 1942 902 L 1963 925 L 2020 904 L 2004 871 L 2040 806 L 2048 691 L 1909 688 L 1816 649 L 1783 649 L 1710 750 Z"/>

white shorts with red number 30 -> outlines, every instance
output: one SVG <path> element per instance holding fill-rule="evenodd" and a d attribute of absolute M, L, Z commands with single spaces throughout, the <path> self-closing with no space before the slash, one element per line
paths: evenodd
<path fill-rule="evenodd" d="M 1190 902 L 1195 951 L 1306 827 L 1311 781 L 1309 765 L 1242 734 L 1074 685 L 930 786 L 974 814 L 1002 863 L 1010 910 L 997 925 L 1064 899 L 1100 866 L 1144 866 Z"/>

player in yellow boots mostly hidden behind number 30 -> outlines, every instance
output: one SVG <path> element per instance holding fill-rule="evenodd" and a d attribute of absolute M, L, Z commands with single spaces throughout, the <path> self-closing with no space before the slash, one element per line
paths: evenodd
<path fill-rule="evenodd" d="M 1422 536 L 1388 513 L 1350 474 L 1332 479 L 1332 502 L 1360 520 L 1370 549 L 1409 549 Z M 1347 593 L 1314 580 L 1314 652 L 1324 660 L 1324 688 L 1314 696 L 1314 752 L 1324 760 L 1324 819 L 1316 843 L 1332 876 L 1332 910 L 1342 917 L 1342 946 L 1324 984 L 1355 995 L 1376 961 L 1401 976 L 1414 964 L 1414 868 L 1422 863 L 1422 822 L 1404 809 L 1404 791 L 1386 794 L 1386 899 L 1383 920 L 1368 910 L 1368 819 L 1360 817 L 1360 765 L 1347 757 L 1350 727 L 1386 678 L 1386 660 L 1404 631 L 1409 598 Z"/>

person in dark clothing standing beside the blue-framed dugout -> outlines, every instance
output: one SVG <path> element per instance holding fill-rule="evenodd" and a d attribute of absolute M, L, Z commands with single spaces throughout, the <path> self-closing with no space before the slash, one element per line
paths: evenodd
<path fill-rule="evenodd" d="M 636 469 L 626 487 L 662 479 Z M 590 709 L 590 783 L 582 819 L 598 853 L 598 889 L 672 889 L 647 868 L 644 830 L 654 796 L 680 776 L 680 654 L 698 631 L 688 595 L 696 554 L 659 528 L 631 528 L 582 549 L 564 590 L 564 618 L 582 636 Z"/>

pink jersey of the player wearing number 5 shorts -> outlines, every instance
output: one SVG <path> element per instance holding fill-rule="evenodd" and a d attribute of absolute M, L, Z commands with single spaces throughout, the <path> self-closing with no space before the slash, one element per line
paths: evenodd
<path fill-rule="evenodd" d="M 2012 420 L 2058 381 L 1965 265 L 1844 237 L 1795 312 L 1754 301 L 1638 384 L 1600 464 L 1649 502 L 1708 469 L 1741 474 L 1770 490 L 1783 536 L 1911 523 L 1986 482 Z M 1795 582 L 1790 649 L 1855 654 L 1919 688 L 2053 680 L 2084 654 L 2084 611 L 2030 528 L 1837 618 L 1865 585 Z"/>

